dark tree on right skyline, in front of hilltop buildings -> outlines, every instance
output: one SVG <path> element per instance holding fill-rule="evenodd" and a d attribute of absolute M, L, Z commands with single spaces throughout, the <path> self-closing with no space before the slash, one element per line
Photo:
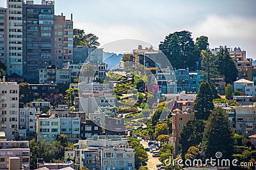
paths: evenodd
<path fill-rule="evenodd" d="M 234 60 L 229 56 L 227 48 L 221 47 L 216 57 L 219 63 L 218 72 L 220 75 L 225 75 L 227 84 L 232 84 L 236 81 L 238 71 Z"/>

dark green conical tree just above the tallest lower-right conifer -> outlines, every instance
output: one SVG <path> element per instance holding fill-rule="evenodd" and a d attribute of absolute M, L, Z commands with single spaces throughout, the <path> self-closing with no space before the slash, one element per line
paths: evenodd
<path fill-rule="evenodd" d="M 194 109 L 197 120 L 207 120 L 211 111 L 214 109 L 212 103 L 211 86 L 208 82 L 202 82 L 196 95 Z"/>

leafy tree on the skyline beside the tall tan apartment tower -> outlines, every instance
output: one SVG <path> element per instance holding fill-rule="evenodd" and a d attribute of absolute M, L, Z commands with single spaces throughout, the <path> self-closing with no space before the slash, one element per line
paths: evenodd
<path fill-rule="evenodd" d="M 96 49 L 100 43 L 99 38 L 92 33 L 85 34 L 83 29 L 73 30 L 74 45 L 86 45 L 89 48 Z"/>

